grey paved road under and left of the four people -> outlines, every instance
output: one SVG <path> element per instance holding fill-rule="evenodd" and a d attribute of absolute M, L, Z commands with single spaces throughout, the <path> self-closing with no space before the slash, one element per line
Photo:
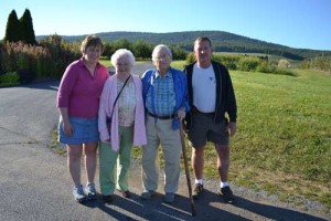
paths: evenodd
<path fill-rule="evenodd" d="M 136 70 L 142 73 L 139 66 Z M 113 204 L 76 203 L 65 157 L 50 148 L 58 118 L 57 87 L 58 82 L 47 82 L 0 88 L 0 220 L 328 220 L 239 187 L 234 187 L 237 204 L 225 204 L 213 180 L 205 183 L 206 193 L 195 203 L 197 214 L 191 217 L 183 173 L 173 204 L 162 202 L 162 179 L 152 201 L 139 199 L 137 160 L 130 177 L 131 199 L 117 193 Z"/>

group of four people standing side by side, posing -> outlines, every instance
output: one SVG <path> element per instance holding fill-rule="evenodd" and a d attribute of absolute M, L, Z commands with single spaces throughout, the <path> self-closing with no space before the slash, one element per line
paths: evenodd
<path fill-rule="evenodd" d="M 119 49 L 111 55 L 115 74 L 109 76 L 107 69 L 98 62 L 103 49 L 99 38 L 87 36 L 82 43 L 82 59 L 67 67 L 57 94 L 61 114 L 58 140 L 67 147 L 74 199 L 81 203 L 96 199 L 94 177 L 98 146 L 103 200 L 113 202 L 116 190 L 122 197 L 130 198 L 128 176 L 131 150 L 134 146 L 141 146 L 143 189 L 140 198 L 151 200 L 156 196 L 160 173 L 159 152 L 162 150 L 163 200 L 167 203 L 173 202 L 181 170 L 182 143 L 179 128 L 183 119 L 188 120 L 189 140 L 193 150 L 193 196 L 197 199 L 202 193 L 202 150 L 205 141 L 213 141 L 220 157 L 220 193 L 227 200 L 233 199 L 227 183 L 227 130 L 232 135 L 235 133 L 235 98 L 227 71 L 223 65 L 211 62 L 210 40 L 204 38 L 195 41 L 197 62 L 185 66 L 185 73 L 170 65 L 172 53 L 167 45 L 157 45 L 152 51 L 154 67 L 147 70 L 141 77 L 132 73 L 135 56 L 127 49 Z M 207 81 L 210 78 L 214 81 Z M 222 84 L 220 86 L 218 81 Z M 200 82 L 203 85 L 199 85 Z M 220 90 L 222 97 L 218 97 Z M 214 99 L 203 98 L 204 91 Z M 224 117 L 228 109 L 229 124 Z M 85 190 L 81 183 L 79 166 L 83 150 L 87 172 Z M 225 176 L 223 170 L 226 170 Z"/>

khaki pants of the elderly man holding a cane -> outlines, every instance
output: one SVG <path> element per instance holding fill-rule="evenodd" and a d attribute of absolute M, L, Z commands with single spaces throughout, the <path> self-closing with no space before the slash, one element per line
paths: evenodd
<path fill-rule="evenodd" d="M 172 119 L 147 116 L 147 145 L 142 147 L 142 185 L 146 190 L 157 190 L 159 181 L 159 145 L 164 156 L 164 192 L 177 192 L 180 177 L 181 140 L 173 130 Z"/>

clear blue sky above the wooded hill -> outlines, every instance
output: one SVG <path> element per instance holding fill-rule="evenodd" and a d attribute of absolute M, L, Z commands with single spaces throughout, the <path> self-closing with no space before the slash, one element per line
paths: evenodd
<path fill-rule="evenodd" d="M 35 35 L 108 31 L 226 31 L 298 49 L 331 50 L 331 0 L 2 0 L 8 15 L 25 9 Z"/>

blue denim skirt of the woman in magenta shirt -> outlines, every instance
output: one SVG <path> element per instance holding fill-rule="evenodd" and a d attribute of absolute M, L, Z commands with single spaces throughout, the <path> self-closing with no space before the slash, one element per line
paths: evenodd
<path fill-rule="evenodd" d="M 99 140 L 98 131 L 98 118 L 82 118 L 82 117 L 70 117 L 73 133 L 71 136 L 66 136 L 63 131 L 63 122 L 60 117 L 57 133 L 58 141 L 67 145 L 81 145 L 85 143 L 94 143 Z"/>

